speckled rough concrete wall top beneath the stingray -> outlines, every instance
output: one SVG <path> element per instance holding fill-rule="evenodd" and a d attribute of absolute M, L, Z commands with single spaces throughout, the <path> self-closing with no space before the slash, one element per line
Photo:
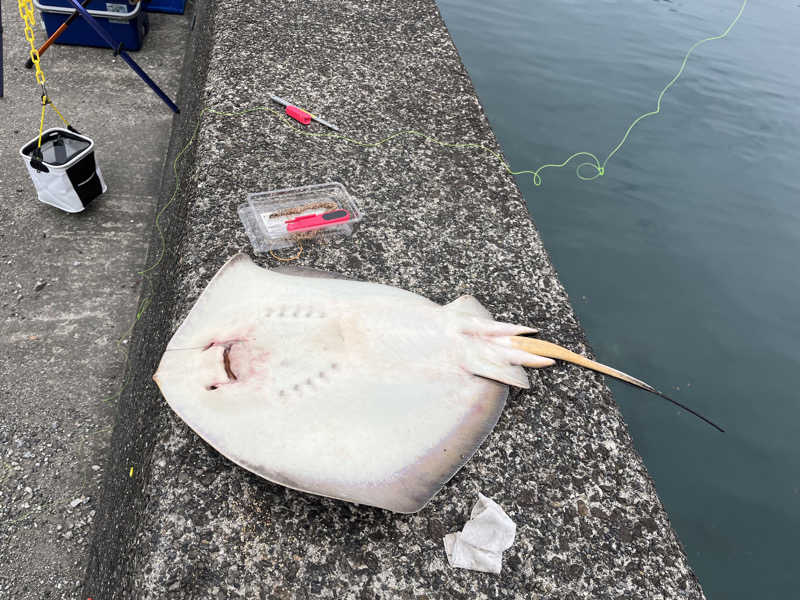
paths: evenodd
<path fill-rule="evenodd" d="M 499 151 L 432 0 L 216 3 L 198 25 L 183 81 L 191 110 L 171 157 L 200 107 L 243 110 L 269 92 L 356 140 L 414 129 Z M 511 395 L 473 459 L 415 515 L 291 491 L 207 446 L 151 376 L 210 277 L 248 248 L 236 214 L 248 192 L 340 181 L 365 224 L 310 245 L 299 264 L 438 302 L 472 293 L 497 318 L 587 347 L 513 178 L 486 153 L 411 136 L 363 148 L 256 111 L 207 113 L 182 160 L 167 251 L 158 235 L 151 248 L 156 291 L 134 336 L 85 596 L 703 597 L 608 390 L 578 368 L 532 372 L 531 390 Z M 518 526 L 499 577 L 451 569 L 443 550 L 479 490 Z"/>

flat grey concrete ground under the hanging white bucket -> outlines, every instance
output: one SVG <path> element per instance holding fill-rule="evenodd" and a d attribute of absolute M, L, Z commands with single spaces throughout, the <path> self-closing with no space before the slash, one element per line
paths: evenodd
<path fill-rule="evenodd" d="M 75 598 L 136 315 L 172 113 L 110 50 L 42 56 L 58 109 L 95 140 L 109 190 L 83 213 L 42 204 L 19 148 L 39 126 L 16 2 L 2 0 L 0 598 Z M 37 43 L 46 39 L 35 30 Z M 177 92 L 189 16 L 152 15 L 135 60 Z M 60 121 L 48 109 L 47 126 Z"/>

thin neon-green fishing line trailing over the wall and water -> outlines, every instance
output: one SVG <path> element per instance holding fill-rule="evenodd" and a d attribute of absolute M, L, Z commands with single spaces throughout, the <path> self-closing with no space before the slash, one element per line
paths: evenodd
<path fill-rule="evenodd" d="M 180 161 L 181 157 L 186 153 L 186 151 L 191 147 L 191 145 L 194 143 L 195 138 L 197 137 L 197 132 L 200 129 L 200 125 L 202 124 L 203 117 L 206 115 L 206 113 L 212 114 L 212 115 L 215 115 L 215 116 L 220 116 L 220 117 L 242 117 L 244 115 L 247 115 L 247 114 L 253 113 L 253 112 L 269 112 L 269 113 L 275 115 L 276 117 L 278 117 L 282 123 L 284 123 L 287 127 L 290 127 L 291 129 L 293 129 L 296 133 L 298 133 L 300 135 L 340 140 L 340 141 L 343 141 L 343 142 L 347 142 L 349 144 L 354 144 L 356 146 L 360 146 L 362 148 L 377 148 L 379 146 L 387 144 L 387 143 L 391 142 L 392 140 L 395 140 L 395 139 L 400 138 L 400 137 L 418 137 L 418 138 L 423 139 L 426 142 L 430 142 L 430 143 L 436 144 L 436 145 L 441 146 L 443 148 L 452 148 L 452 149 L 461 149 L 461 150 L 466 150 L 466 149 L 479 150 L 479 151 L 486 152 L 486 153 L 491 154 L 492 156 L 494 156 L 498 160 L 498 162 L 503 166 L 503 168 L 505 168 L 505 170 L 511 175 L 515 175 L 515 176 L 517 176 L 517 175 L 531 175 L 533 177 L 533 183 L 536 186 L 542 185 L 542 177 L 541 177 L 540 173 L 544 169 L 551 169 L 551 168 L 552 169 L 560 169 L 562 167 L 567 166 L 570 162 L 572 162 L 574 159 L 578 158 L 579 156 L 584 156 L 584 157 L 589 157 L 591 160 L 579 163 L 578 166 L 575 168 L 575 175 L 578 177 L 578 179 L 580 179 L 582 181 L 593 181 L 593 180 L 605 175 L 606 165 L 608 164 L 608 161 L 611 160 L 611 158 L 617 152 L 619 152 L 619 150 L 622 148 L 622 146 L 628 140 L 628 137 L 630 136 L 630 133 L 633 130 L 633 128 L 636 127 L 636 125 L 638 125 L 641 121 L 643 121 L 647 117 L 652 117 L 652 116 L 657 115 L 657 114 L 659 114 L 661 112 L 661 102 L 664 99 L 664 95 L 667 93 L 667 91 L 673 85 L 675 85 L 675 82 L 677 82 L 678 79 L 680 78 L 680 76 L 683 74 L 683 71 L 686 68 L 686 63 L 689 61 L 689 57 L 692 55 L 692 53 L 698 47 L 702 46 L 706 42 L 711 42 L 711 41 L 714 41 L 714 40 L 720 40 L 720 39 L 722 39 L 724 37 L 727 37 L 727 35 L 730 33 L 731 29 L 733 29 L 734 25 L 736 25 L 736 23 L 739 21 L 739 18 L 742 16 L 742 13 L 744 12 L 745 6 L 747 6 L 747 2 L 748 2 L 748 0 L 743 0 L 742 5 L 739 8 L 739 12 L 736 14 L 736 17 L 733 19 L 731 24 L 728 25 L 728 27 L 727 27 L 727 29 L 725 29 L 725 31 L 723 31 L 719 35 L 714 35 L 714 36 L 711 36 L 711 37 L 707 37 L 707 38 L 704 38 L 704 39 L 700 40 L 699 42 L 695 42 L 692 45 L 692 47 L 689 48 L 689 50 L 686 52 L 686 55 L 683 57 L 683 62 L 681 63 L 680 69 L 678 69 L 678 72 L 675 74 L 675 76 L 669 81 L 669 83 L 667 83 L 667 85 L 664 86 L 664 89 L 662 89 L 661 93 L 658 95 L 658 99 L 656 100 L 656 109 L 651 111 L 651 112 L 647 112 L 647 113 L 641 114 L 638 117 L 636 117 L 631 122 L 631 124 L 628 126 L 628 129 L 625 131 L 625 135 L 622 136 L 622 139 L 620 139 L 620 141 L 617 143 L 617 145 L 614 146 L 611 149 L 611 151 L 608 153 L 608 156 L 606 156 L 605 160 L 602 161 L 602 162 L 600 162 L 600 159 L 595 154 L 593 154 L 591 152 L 576 152 L 575 154 L 572 154 L 571 156 L 569 156 L 564 162 L 561 162 L 561 163 L 548 163 L 548 164 L 540 166 L 535 171 L 534 170 L 514 171 L 511 168 L 511 166 L 508 164 L 508 162 L 503 158 L 503 156 L 499 152 L 497 152 L 496 150 L 494 150 L 492 148 L 489 148 L 489 147 L 484 146 L 482 144 L 463 144 L 463 143 L 443 142 L 443 141 L 441 141 L 441 140 L 439 140 L 439 139 L 437 139 L 437 138 L 435 138 L 435 137 L 433 137 L 431 135 L 428 135 L 426 133 L 423 133 L 421 131 L 416 131 L 416 130 L 413 130 L 413 129 L 409 129 L 409 130 L 404 130 L 404 131 L 399 131 L 399 132 L 393 133 L 392 135 L 387 136 L 387 137 L 385 137 L 383 139 L 380 139 L 380 140 L 378 140 L 376 142 L 364 142 L 364 141 L 361 141 L 361 140 L 356 140 L 356 139 L 353 139 L 353 138 L 349 138 L 347 136 L 344 136 L 344 135 L 341 135 L 341 134 L 338 134 L 338 133 L 316 133 L 316 132 L 311 132 L 311 131 L 306 131 L 304 129 L 300 129 L 288 117 L 286 117 L 286 115 L 284 113 L 278 112 L 278 111 L 276 111 L 276 110 L 274 110 L 274 109 L 272 109 L 270 107 L 267 107 L 267 106 L 255 106 L 255 107 L 246 108 L 246 109 L 243 109 L 243 110 L 240 110 L 240 111 L 234 111 L 234 112 L 222 111 L 222 110 L 218 110 L 218 109 L 211 108 L 211 107 L 204 107 L 203 110 L 200 112 L 200 115 L 197 118 L 197 123 L 195 125 L 194 130 L 192 131 L 192 135 L 189 138 L 189 141 L 187 141 L 186 144 L 183 146 L 183 148 L 180 150 L 180 152 L 178 152 L 178 154 L 175 156 L 175 160 L 172 163 L 172 171 L 173 171 L 173 173 L 175 175 L 175 187 L 173 189 L 172 195 L 170 196 L 169 200 L 166 203 L 164 203 L 164 206 L 161 207 L 161 209 L 156 214 L 155 227 L 156 227 L 156 231 L 158 232 L 159 238 L 161 240 L 160 249 L 159 249 L 159 252 L 158 252 L 158 257 L 155 259 L 155 261 L 150 266 L 148 266 L 145 269 L 143 269 L 143 270 L 138 272 L 138 274 L 140 276 L 142 276 L 142 278 L 145 280 L 148 289 L 147 289 L 146 293 L 144 294 L 144 297 L 143 297 L 142 301 L 139 303 L 139 305 L 137 307 L 136 319 L 131 324 L 130 328 L 119 338 L 119 340 L 117 342 L 118 348 L 125 355 L 126 364 L 127 364 L 127 359 L 128 359 L 128 353 L 127 353 L 127 350 L 124 350 L 122 348 L 122 345 L 124 344 L 125 339 L 128 336 L 130 336 L 130 334 L 133 332 L 133 329 L 134 329 L 136 323 L 142 318 L 142 315 L 147 310 L 147 308 L 150 306 L 150 302 L 151 302 L 151 298 L 152 298 L 152 294 L 153 294 L 153 283 L 152 283 L 150 274 L 152 273 L 152 271 L 157 269 L 158 266 L 161 264 L 161 262 L 164 259 L 164 254 L 166 252 L 166 239 L 164 237 L 164 232 L 163 232 L 163 230 L 161 228 L 161 218 L 164 215 L 164 213 L 167 211 L 167 209 L 169 209 L 169 207 L 174 203 L 175 199 L 178 196 L 178 192 L 180 191 L 180 175 L 178 173 L 178 162 Z M 594 172 L 592 174 L 589 174 L 589 175 L 584 175 L 581 171 L 582 170 L 585 171 L 587 168 L 593 169 Z M 125 388 L 127 387 L 128 383 L 129 383 L 129 381 L 126 381 L 123 384 L 123 386 L 117 391 L 117 393 L 114 394 L 113 396 L 111 396 L 110 398 L 107 398 L 106 401 L 114 400 L 114 399 L 118 398 L 122 394 L 122 392 L 125 390 Z"/>

